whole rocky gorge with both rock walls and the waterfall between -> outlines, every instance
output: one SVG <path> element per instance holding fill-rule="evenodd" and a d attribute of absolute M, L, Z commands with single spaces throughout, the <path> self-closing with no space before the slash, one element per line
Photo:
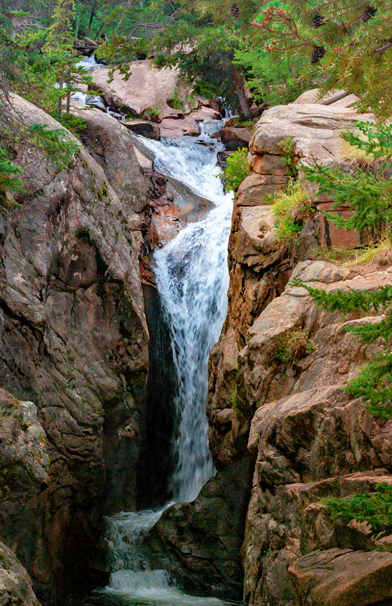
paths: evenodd
<path fill-rule="evenodd" d="M 287 186 L 282 141 L 350 168 L 339 134 L 373 117 L 308 97 L 254 133 L 228 127 L 226 151 L 222 122 L 157 141 L 78 107 L 70 170 L 15 144 L 27 194 L 0 216 L 0 582 L 15 604 L 392 603 L 391 538 L 322 502 L 392 484 L 391 421 L 342 390 L 383 346 L 346 328 L 382 314 L 322 311 L 291 282 L 376 289 L 390 251 L 325 260 L 365 236 L 328 222 L 333 200 L 301 173 L 294 244 L 266 204 Z M 233 201 L 216 156 L 248 140 Z M 294 332 L 306 347 L 279 358 Z"/>

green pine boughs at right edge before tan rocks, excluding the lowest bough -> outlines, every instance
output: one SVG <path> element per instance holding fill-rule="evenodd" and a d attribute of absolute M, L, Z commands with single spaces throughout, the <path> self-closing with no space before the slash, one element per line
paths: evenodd
<path fill-rule="evenodd" d="M 342 136 L 366 153 L 367 162 L 363 167 L 346 173 L 316 161 L 302 169 L 308 181 L 316 183 L 320 193 L 333 197 L 333 208 L 342 204 L 350 207 L 351 216 L 343 218 L 331 211 L 327 213 L 328 219 L 347 230 L 367 231 L 377 242 L 392 225 L 392 127 L 360 122 L 357 127 L 360 133 L 349 132 Z M 360 342 L 370 345 L 380 339 L 384 347 L 356 378 L 348 382 L 346 391 L 353 398 L 362 398 L 377 418 L 392 418 L 392 285 L 379 290 L 328 293 L 303 282 L 298 284 L 306 288 L 319 307 L 328 311 L 382 310 L 385 318 L 381 322 L 347 328 Z"/>

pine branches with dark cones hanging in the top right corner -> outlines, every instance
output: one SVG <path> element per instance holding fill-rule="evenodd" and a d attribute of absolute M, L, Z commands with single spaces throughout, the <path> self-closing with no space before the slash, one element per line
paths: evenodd
<path fill-rule="evenodd" d="M 307 58 L 321 94 L 344 89 L 357 107 L 382 119 L 392 113 L 392 2 L 270 0 L 253 21 L 254 41 L 282 57 Z"/>

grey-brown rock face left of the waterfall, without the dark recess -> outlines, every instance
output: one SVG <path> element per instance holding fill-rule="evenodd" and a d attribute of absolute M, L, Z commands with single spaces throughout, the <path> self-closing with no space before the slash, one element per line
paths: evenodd
<path fill-rule="evenodd" d="M 27 124 L 60 127 L 34 105 L 13 102 Z M 42 461 L 29 471 L 41 473 L 39 482 L 25 493 L 21 481 L 20 518 L 14 524 L 18 495 L 10 504 L 4 493 L 0 519 L 44 602 L 61 602 L 69 574 L 75 585 L 91 576 L 96 505 L 135 507 L 144 427 L 148 331 L 135 210 L 146 204 L 147 185 L 118 123 L 110 125 L 122 145 L 116 155 L 98 112 L 87 114 L 87 143 L 104 169 L 84 149 L 60 170 L 43 150 L 16 144 L 27 193 L 22 208 L 3 211 L 0 226 L 1 387 L 22 401 L 21 427 L 34 427 L 26 464 L 29 456 L 31 465 Z"/>

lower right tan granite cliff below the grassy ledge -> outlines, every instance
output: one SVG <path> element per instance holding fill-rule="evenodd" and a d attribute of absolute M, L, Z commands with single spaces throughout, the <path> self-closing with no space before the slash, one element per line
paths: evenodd
<path fill-rule="evenodd" d="M 293 276 L 327 291 L 391 283 L 391 267 L 357 272 L 306 261 L 297 265 Z M 321 499 L 392 482 L 391 422 L 377 421 L 361 401 L 350 401 L 342 391 L 383 347 L 382 341 L 361 344 L 345 328 L 382 317 L 327 313 L 305 289 L 288 285 L 248 330 L 247 345 L 238 356 L 238 407 L 252 417 L 248 449 L 256 459 L 243 545 L 247 604 L 285 603 L 282 591 L 295 605 L 318 604 L 297 591 L 288 567 L 319 548 L 376 545 L 374 536 L 336 527 Z M 277 351 L 293 330 L 304 331 L 311 347 L 298 351 L 293 361 L 282 361 Z M 348 577 L 356 574 L 356 559 L 352 562 Z M 316 565 L 313 572 L 316 579 Z M 307 574 L 310 578 L 311 572 Z M 313 586 L 315 581 L 309 582 Z M 350 603 L 347 596 L 342 604 Z"/>

